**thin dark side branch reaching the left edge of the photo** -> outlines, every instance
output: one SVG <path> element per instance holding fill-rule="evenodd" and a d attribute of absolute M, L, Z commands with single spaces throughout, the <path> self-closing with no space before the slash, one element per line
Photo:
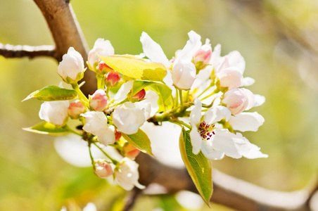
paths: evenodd
<path fill-rule="evenodd" d="M 0 43 L 0 55 L 5 58 L 34 58 L 37 56 L 56 58 L 56 50 L 54 46 L 13 46 Z"/>

